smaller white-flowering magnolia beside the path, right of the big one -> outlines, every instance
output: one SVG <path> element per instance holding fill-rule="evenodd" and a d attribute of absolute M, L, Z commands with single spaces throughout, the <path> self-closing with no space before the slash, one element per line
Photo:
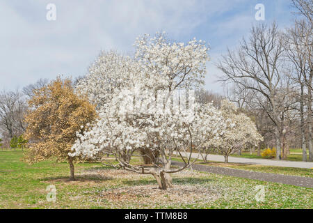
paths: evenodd
<path fill-rule="evenodd" d="M 238 152 L 246 146 L 257 146 L 263 138 L 257 127 L 246 114 L 239 113 L 238 108 L 230 101 L 223 100 L 220 108 L 225 127 L 220 132 L 218 139 L 210 141 L 211 146 L 217 148 L 218 152 L 225 157 L 228 162 L 228 156 Z"/>

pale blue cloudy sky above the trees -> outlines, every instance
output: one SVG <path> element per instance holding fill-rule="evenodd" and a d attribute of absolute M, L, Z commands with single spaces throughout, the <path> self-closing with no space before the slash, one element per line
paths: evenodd
<path fill-rule="evenodd" d="M 56 20 L 47 20 L 47 5 Z M 194 37 L 210 45 L 204 89 L 223 93 L 216 62 L 238 45 L 265 6 L 265 22 L 292 24 L 289 0 L 1 0 L 0 91 L 15 91 L 40 78 L 86 75 L 101 50 L 134 52 L 134 40 L 166 31 L 178 42 Z"/>

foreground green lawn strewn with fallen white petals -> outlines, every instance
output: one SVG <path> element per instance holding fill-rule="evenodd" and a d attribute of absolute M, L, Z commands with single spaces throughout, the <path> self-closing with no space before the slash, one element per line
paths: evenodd
<path fill-rule="evenodd" d="M 67 180 L 66 162 L 28 165 L 22 151 L 0 151 L 0 208 L 313 208 L 313 189 L 182 171 L 172 174 L 174 187 L 159 190 L 150 175 L 75 164 L 76 181 Z M 136 160 L 138 162 L 138 160 Z M 46 187 L 56 186 L 56 202 Z M 265 201 L 255 199 L 264 185 Z"/>

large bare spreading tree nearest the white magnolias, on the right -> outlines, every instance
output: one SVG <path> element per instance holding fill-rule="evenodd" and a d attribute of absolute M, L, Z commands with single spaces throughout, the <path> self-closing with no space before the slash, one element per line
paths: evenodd
<path fill-rule="evenodd" d="M 217 64 L 223 72 L 220 81 L 234 84 L 241 92 L 248 91 L 254 98 L 254 105 L 263 109 L 275 125 L 277 159 L 281 159 L 285 102 L 292 103 L 287 100 L 289 79 L 284 76 L 283 53 L 282 32 L 277 24 L 260 24 L 252 27 L 248 40 L 243 38 L 235 51 L 228 49 Z"/>

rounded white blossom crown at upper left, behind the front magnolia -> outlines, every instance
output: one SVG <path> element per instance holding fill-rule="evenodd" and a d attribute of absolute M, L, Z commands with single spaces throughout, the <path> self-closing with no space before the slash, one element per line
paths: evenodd
<path fill-rule="evenodd" d="M 89 68 L 87 77 L 77 84 L 76 91 L 87 95 L 98 108 L 109 102 L 113 94 L 134 86 L 142 77 L 141 65 L 129 56 L 101 52 Z"/>

